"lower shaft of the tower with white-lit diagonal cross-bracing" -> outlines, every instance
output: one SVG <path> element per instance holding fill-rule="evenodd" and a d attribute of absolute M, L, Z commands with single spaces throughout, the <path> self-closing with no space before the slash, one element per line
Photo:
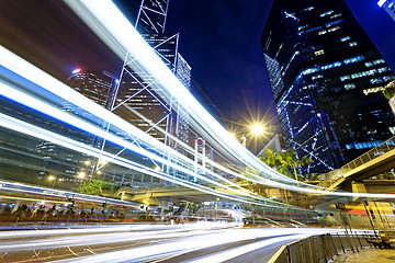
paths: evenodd
<path fill-rule="evenodd" d="M 145 33 L 142 36 L 174 72 L 178 35 Z M 126 72 L 120 78 L 115 113 L 150 136 L 166 142 L 166 132 L 171 129 L 172 115 L 171 105 L 161 92 L 162 88 L 156 83 L 155 76 L 129 70 Z"/>

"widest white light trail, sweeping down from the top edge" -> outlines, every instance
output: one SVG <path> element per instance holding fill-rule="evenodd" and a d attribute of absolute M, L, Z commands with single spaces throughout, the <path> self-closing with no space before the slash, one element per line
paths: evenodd
<path fill-rule="evenodd" d="M 206 135 L 203 136 L 206 140 L 211 138 L 213 147 L 219 150 L 223 149 L 222 153 L 224 156 L 232 158 L 235 162 L 245 162 L 246 165 L 253 170 L 262 172 L 264 176 L 296 185 L 294 180 L 268 168 L 250 151 L 246 151 L 244 146 L 232 137 L 182 85 L 113 2 L 110 0 L 68 0 L 66 3 L 121 59 L 125 58 L 128 50 L 129 55 L 138 61 L 137 66 L 131 64 L 132 69 L 138 67 L 138 70 L 154 75 L 158 82 L 161 83 L 160 87 L 165 88 L 169 94 L 172 94 L 187 110 L 196 124 L 194 128 Z M 240 152 L 244 152 L 247 158 L 240 158 Z"/>

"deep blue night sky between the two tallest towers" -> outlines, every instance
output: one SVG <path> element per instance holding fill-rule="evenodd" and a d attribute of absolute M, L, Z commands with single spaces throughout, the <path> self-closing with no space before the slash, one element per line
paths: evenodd
<path fill-rule="evenodd" d="M 180 32 L 194 81 L 227 122 L 275 115 L 260 45 L 271 2 L 170 0 L 166 31 Z"/>

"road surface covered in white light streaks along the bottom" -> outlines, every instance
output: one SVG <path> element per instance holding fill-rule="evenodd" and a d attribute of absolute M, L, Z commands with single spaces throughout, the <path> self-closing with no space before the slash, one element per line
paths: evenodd
<path fill-rule="evenodd" d="M 334 231 L 213 222 L 4 230 L 0 262 L 268 262 L 284 243 Z"/>

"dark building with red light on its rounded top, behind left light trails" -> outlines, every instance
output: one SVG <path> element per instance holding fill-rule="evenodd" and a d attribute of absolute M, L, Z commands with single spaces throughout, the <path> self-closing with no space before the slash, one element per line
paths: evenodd
<path fill-rule="evenodd" d="M 113 92 L 116 85 L 116 78 L 113 77 L 110 72 L 99 70 L 82 70 L 78 68 L 74 70 L 72 75 L 66 80 L 66 84 L 97 104 L 101 105 L 102 107 L 108 110 L 111 108 Z M 90 113 L 81 111 L 81 108 L 67 101 L 63 103 L 63 111 L 72 115 L 79 115 L 81 118 L 92 118 Z M 104 127 L 106 124 L 104 122 L 99 122 L 97 125 Z M 74 132 L 67 126 L 63 126 L 61 132 L 58 132 L 58 134 L 65 136 L 72 134 L 72 138 L 80 142 L 97 149 L 101 149 L 103 147 L 103 139 L 97 136 L 87 136 L 87 134 L 81 132 Z M 67 162 L 69 162 L 68 165 L 58 165 L 56 162 L 48 161 L 45 163 L 44 170 L 56 171 L 57 174 L 65 174 L 68 175 L 68 178 L 76 178 L 77 174 L 81 171 L 83 171 L 87 176 L 93 175 L 94 165 L 98 161 L 95 158 L 91 158 L 84 153 L 75 155 L 70 151 L 61 150 L 61 147 L 46 140 L 41 140 L 40 144 L 37 144 L 36 152 L 44 155 L 46 160 L 56 158 L 67 160 Z M 103 176 L 105 175 L 106 174 L 103 173 Z"/>

